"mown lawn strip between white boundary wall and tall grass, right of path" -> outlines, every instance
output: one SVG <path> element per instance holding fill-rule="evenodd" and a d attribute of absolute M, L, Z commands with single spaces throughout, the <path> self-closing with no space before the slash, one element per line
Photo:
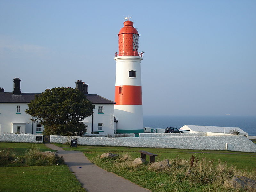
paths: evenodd
<path fill-rule="evenodd" d="M 70 145 L 55 143 L 64 150 L 76 150 L 84 152 L 88 159 L 92 160 L 98 154 L 106 152 L 128 152 L 134 159 L 140 157 L 139 150 L 148 151 L 158 155 L 156 161 L 164 159 L 172 159 L 177 156 L 179 158 L 189 159 L 194 152 L 196 157 L 205 157 L 209 161 L 214 159 L 217 163 L 218 159 L 227 162 L 228 166 L 235 166 L 243 169 L 256 169 L 256 153 L 232 152 L 232 151 L 210 151 L 210 150 L 189 150 L 189 149 L 173 149 L 173 148 L 135 148 L 135 147 L 115 147 L 115 146 L 82 146 L 71 148 Z M 149 157 L 147 156 L 147 161 Z"/>

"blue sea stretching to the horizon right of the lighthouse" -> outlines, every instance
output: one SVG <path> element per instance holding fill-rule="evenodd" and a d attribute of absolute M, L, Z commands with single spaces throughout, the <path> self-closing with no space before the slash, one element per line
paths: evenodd
<path fill-rule="evenodd" d="M 144 115 L 144 127 L 163 128 L 184 125 L 204 125 L 218 127 L 239 127 L 256 136 L 256 116 L 153 116 Z"/>

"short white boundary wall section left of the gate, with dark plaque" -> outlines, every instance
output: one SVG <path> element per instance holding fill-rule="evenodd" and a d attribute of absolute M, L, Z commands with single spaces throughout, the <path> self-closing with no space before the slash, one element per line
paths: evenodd
<path fill-rule="evenodd" d="M 41 141 L 36 140 L 37 136 L 43 136 L 43 135 L 1 133 L 0 142 L 43 143 L 43 138 Z"/>

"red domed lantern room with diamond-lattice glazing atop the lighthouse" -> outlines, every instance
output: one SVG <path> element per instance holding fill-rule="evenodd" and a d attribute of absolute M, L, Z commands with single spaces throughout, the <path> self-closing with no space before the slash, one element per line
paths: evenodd
<path fill-rule="evenodd" d="M 132 21 L 124 21 L 124 27 L 118 33 L 119 54 L 116 56 L 141 56 L 139 49 L 139 33 Z"/>

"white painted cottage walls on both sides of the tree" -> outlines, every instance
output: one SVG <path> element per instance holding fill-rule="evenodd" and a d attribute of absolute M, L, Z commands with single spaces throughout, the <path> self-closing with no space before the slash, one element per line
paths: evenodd
<path fill-rule="evenodd" d="M 20 114 L 16 114 L 17 105 L 20 106 Z M 103 106 L 104 114 L 98 114 L 98 106 Z M 0 133 L 16 133 L 17 126 L 21 126 L 22 134 L 32 134 L 32 121 L 30 120 L 32 117 L 25 113 L 26 109 L 28 109 L 27 103 L 0 103 Z M 113 134 L 114 104 L 95 104 L 93 112 L 93 124 L 92 116 L 83 121 L 88 125 L 87 132 L 91 133 L 92 125 L 93 131 L 98 131 L 98 123 L 103 123 L 103 129 L 99 131 L 103 131 L 104 134 Z M 42 126 L 43 130 L 44 126 Z M 33 134 L 41 134 L 42 131 L 36 131 L 36 123 L 33 122 Z"/>

